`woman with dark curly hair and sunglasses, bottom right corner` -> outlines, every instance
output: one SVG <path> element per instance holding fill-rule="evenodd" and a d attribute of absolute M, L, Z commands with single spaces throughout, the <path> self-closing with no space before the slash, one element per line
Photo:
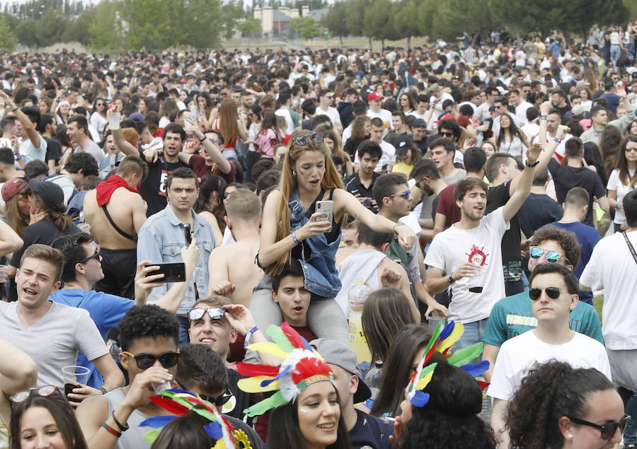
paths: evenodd
<path fill-rule="evenodd" d="M 560 361 L 530 371 L 507 412 L 511 446 L 525 449 L 614 448 L 629 421 L 605 375 Z"/>

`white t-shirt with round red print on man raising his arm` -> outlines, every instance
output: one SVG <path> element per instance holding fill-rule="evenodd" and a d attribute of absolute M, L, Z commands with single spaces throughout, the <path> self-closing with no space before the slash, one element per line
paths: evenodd
<path fill-rule="evenodd" d="M 483 216 L 476 228 L 460 229 L 454 223 L 437 234 L 431 243 L 425 264 L 442 269 L 447 274 L 452 274 L 466 262 L 478 267 L 474 277 L 464 277 L 454 282 L 449 320 L 461 323 L 482 320 L 489 316 L 491 308 L 500 298 L 507 296 L 501 243 L 509 222 L 505 221 L 502 211 L 500 207 Z M 469 289 L 473 287 L 482 287 L 483 291 L 472 293 Z"/>

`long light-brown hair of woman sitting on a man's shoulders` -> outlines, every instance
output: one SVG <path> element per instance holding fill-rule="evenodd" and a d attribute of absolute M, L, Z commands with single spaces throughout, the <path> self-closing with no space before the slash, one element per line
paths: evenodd
<path fill-rule="evenodd" d="M 289 206 L 287 203 L 289 202 L 289 196 L 292 194 L 292 191 L 298 188 L 297 177 L 292 173 L 292 163 L 294 163 L 294 161 L 296 161 L 302 153 L 306 151 L 321 151 L 321 153 L 323 153 L 323 156 L 325 157 L 325 174 L 321 180 L 321 189 L 327 190 L 332 187 L 343 189 L 343 181 L 340 179 L 340 175 L 332 162 L 330 148 L 328 148 L 327 144 L 323 141 L 321 141 L 320 144 L 317 144 L 315 141 L 310 139 L 309 137 L 312 134 L 314 134 L 314 132 L 308 130 L 297 131 L 292 134 L 292 137 L 289 139 L 289 143 L 287 144 L 287 153 L 285 153 L 285 158 L 283 158 L 281 180 L 279 181 L 281 197 L 279 200 L 277 214 L 280 218 L 280 226 L 277 231 L 277 242 L 289 235 Z M 307 136 L 307 143 L 303 146 L 297 144 L 294 139 L 298 136 Z M 345 216 L 343 215 L 343 217 L 340 218 L 340 224 L 342 225 L 344 221 Z M 280 274 L 283 267 L 285 267 L 285 264 L 289 261 L 289 257 L 290 252 L 287 252 L 285 256 L 281 257 L 277 260 L 277 262 L 266 267 L 266 274 L 270 276 L 277 276 Z"/>

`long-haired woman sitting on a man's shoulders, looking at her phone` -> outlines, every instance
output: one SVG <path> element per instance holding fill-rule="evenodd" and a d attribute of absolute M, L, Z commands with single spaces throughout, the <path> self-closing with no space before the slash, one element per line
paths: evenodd
<path fill-rule="evenodd" d="M 288 146 L 279 189 L 268 196 L 263 209 L 257 262 L 267 276 L 257 286 L 251 312 L 261 329 L 282 322 L 280 308 L 272 301 L 269 276 L 280 274 L 294 258 L 301 261 L 305 288 L 312 293 L 307 314 L 310 329 L 316 337 L 348 342 L 345 315 L 333 299 L 341 286 L 334 255 L 345 215 L 357 218 L 374 231 L 396 233 L 405 248 L 413 245 L 415 235 L 407 226 L 375 215 L 343 189 L 323 134 L 296 132 Z M 317 200 L 333 202 L 331 221 L 316 211 Z"/>

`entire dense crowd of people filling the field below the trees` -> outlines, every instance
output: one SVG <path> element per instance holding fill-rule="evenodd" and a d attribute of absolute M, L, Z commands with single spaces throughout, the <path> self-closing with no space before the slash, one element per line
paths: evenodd
<path fill-rule="evenodd" d="M 635 448 L 636 43 L 1 54 L 0 448 Z"/>

